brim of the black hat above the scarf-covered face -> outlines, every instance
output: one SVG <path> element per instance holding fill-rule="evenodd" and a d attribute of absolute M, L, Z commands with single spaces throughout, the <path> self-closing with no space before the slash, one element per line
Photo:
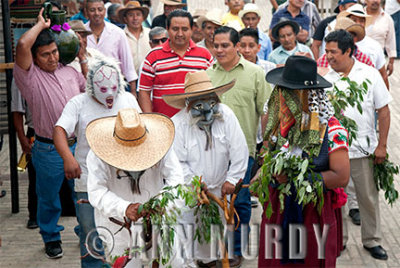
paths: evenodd
<path fill-rule="evenodd" d="M 325 78 L 323 78 L 319 74 L 317 74 L 317 84 L 315 85 L 295 84 L 292 81 L 287 81 L 283 79 L 282 74 L 284 68 L 285 67 L 279 67 L 269 71 L 265 76 L 265 79 L 271 84 L 289 89 L 314 89 L 314 88 L 327 88 L 332 86 L 331 83 L 329 83 Z"/>

